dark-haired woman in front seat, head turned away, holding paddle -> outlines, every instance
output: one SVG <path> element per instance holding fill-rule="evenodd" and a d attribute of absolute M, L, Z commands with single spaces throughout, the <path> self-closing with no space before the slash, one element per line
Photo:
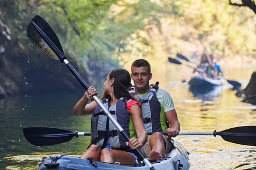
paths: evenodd
<path fill-rule="evenodd" d="M 92 97 L 97 95 L 98 91 L 90 86 L 73 108 L 73 113 L 77 116 L 92 114 L 92 141 L 81 158 L 92 157 L 96 161 L 136 166 L 137 156 L 134 150 L 145 143 L 147 133 L 142 120 L 141 104 L 128 92 L 130 85 L 131 78 L 127 70 L 113 69 L 104 83 L 101 102 L 117 119 L 128 136 L 131 131 L 136 131 L 131 134 L 137 134 L 138 138 L 130 136 L 131 139 L 126 141 L 98 104 L 93 101 Z M 93 102 L 87 104 L 89 100 Z"/>

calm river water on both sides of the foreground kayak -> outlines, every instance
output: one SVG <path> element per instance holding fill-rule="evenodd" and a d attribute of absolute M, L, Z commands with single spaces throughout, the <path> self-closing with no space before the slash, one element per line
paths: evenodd
<path fill-rule="evenodd" d="M 157 75 L 153 75 L 155 79 L 151 83 L 159 81 L 159 86 L 172 95 L 181 132 L 213 132 L 256 125 L 256 106 L 241 102 L 230 85 L 206 94 L 193 94 L 186 83 L 181 83 L 181 79 L 186 79 L 188 75 L 182 70 L 175 72 L 177 68 L 171 69 L 159 73 L 154 70 Z M 247 76 L 244 77 L 237 77 L 239 74 L 230 77 L 247 85 L 251 71 L 246 72 Z M 0 170 L 35 170 L 43 156 L 77 156 L 85 151 L 89 136 L 74 137 L 69 142 L 54 146 L 38 147 L 30 144 L 22 133 L 22 128 L 31 126 L 89 132 L 90 116 L 72 115 L 73 106 L 81 95 L 24 94 L 0 100 Z M 175 139 L 190 153 L 191 170 L 256 169 L 256 147 L 227 142 L 220 136 L 177 136 Z"/>

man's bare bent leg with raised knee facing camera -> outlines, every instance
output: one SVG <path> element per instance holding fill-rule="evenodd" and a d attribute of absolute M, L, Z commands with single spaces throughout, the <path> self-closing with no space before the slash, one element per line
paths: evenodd
<path fill-rule="evenodd" d="M 166 143 L 162 134 L 158 132 L 154 133 L 149 139 L 149 146 L 151 148 L 151 153 L 149 155 L 150 160 L 164 157 Z"/>

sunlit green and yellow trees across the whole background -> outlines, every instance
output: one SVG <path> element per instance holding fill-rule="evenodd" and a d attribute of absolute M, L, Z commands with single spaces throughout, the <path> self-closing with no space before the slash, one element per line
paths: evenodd
<path fill-rule="evenodd" d="M 152 54 L 156 39 L 164 42 L 161 48 L 167 54 L 184 51 L 182 43 L 189 42 L 220 56 L 255 55 L 255 14 L 249 8 L 228 3 L 228 0 L 1 0 L 0 20 L 10 26 L 18 47 L 26 51 L 26 26 L 34 15 L 41 15 L 55 30 L 64 52 L 92 73 L 92 77 L 102 79 L 106 72 L 131 59 L 127 56 Z M 188 53 L 197 49 L 193 50 Z"/>

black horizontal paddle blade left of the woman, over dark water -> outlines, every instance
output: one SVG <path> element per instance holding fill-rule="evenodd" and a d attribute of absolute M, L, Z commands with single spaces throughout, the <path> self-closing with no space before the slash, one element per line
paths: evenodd
<path fill-rule="evenodd" d="M 72 137 L 77 136 L 76 132 L 48 127 L 23 128 L 23 134 L 27 141 L 36 146 L 56 145 L 70 141 Z"/>

